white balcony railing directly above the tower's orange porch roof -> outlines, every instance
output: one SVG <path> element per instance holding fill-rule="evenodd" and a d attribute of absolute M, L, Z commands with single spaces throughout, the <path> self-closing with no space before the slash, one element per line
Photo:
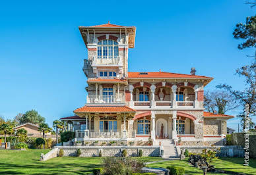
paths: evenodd
<path fill-rule="evenodd" d="M 88 104 L 123 104 L 125 103 L 125 96 L 120 95 L 88 95 L 87 100 Z"/>

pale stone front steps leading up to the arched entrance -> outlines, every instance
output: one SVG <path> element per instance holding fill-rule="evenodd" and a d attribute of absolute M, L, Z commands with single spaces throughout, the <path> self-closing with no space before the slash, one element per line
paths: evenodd
<path fill-rule="evenodd" d="M 154 145 L 160 145 L 164 148 L 164 154 L 162 158 L 164 159 L 179 159 L 177 153 L 177 148 L 173 139 L 156 139 Z"/>

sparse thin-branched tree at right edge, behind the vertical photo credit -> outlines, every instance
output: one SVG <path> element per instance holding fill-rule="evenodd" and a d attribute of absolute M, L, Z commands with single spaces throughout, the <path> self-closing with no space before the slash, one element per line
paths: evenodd
<path fill-rule="evenodd" d="M 251 116 L 256 114 L 256 59 L 254 63 L 246 66 L 242 66 L 236 70 L 236 74 L 245 78 L 245 89 L 238 91 L 232 89 L 232 86 L 227 84 L 220 84 L 217 88 L 226 89 L 238 103 L 243 107 L 243 111 L 238 114 L 241 118 L 241 124 L 243 130 L 245 129 L 245 105 L 247 105 L 247 111 L 249 112 L 249 129 L 252 129 L 255 124 L 251 121 Z"/>

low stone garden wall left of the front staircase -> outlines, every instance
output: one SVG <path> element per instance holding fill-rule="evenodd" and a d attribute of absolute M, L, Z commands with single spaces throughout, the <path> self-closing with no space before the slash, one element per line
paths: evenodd
<path fill-rule="evenodd" d="M 63 149 L 64 156 L 76 156 L 77 149 L 81 149 L 82 154 L 80 157 L 98 157 L 100 151 L 102 151 L 102 157 L 119 157 L 123 149 L 127 150 L 129 157 L 137 157 L 139 150 L 143 151 L 143 156 L 147 157 L 159 157 L 160 147 L 158 146 L 111 146 L 111 147 L 100 147 L 100 146 L 56 146 L 55 148 Z"/>

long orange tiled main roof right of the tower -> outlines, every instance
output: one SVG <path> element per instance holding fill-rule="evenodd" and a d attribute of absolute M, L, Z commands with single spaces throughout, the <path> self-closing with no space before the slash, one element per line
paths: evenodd
<path fill-rule="evenodd" d="M 128 72 L 128 78 L 208 78 L 208 76 L 194 76 L 191 74 L 176 74 L 171 72 L 145 72 L 147 74 L 140 74 L 141 72 Z"/>

